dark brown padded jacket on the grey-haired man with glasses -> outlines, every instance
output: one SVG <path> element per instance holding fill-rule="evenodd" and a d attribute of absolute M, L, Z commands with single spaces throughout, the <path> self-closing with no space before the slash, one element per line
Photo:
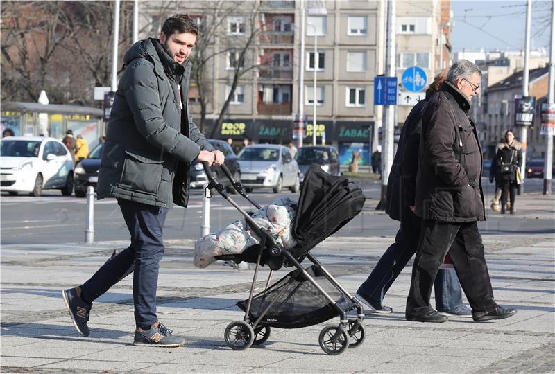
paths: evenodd
<path fill-rule="evenodd" d="M 438 222 L 485 220 L 482 153 L 470 103 L 450 82 L 429 99 L 422 116 L 416 215 Z"/>

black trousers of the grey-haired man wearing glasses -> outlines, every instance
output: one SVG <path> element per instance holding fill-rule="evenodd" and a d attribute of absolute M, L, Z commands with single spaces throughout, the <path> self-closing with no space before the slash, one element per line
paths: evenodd
<path fill-rule="evenodd" d="M 459 245 L 452 246 L 455 240 Z M 412 269 L 407 315 L 423 314 L 432 308 L 429 305 L 432 284 L 447 251 L 472 307 L 472 313 L 490 312 L 497 307 L 493 301 L 493 290 L 478 223 L 425 220 L 422 222 L 418 252 Z"/>

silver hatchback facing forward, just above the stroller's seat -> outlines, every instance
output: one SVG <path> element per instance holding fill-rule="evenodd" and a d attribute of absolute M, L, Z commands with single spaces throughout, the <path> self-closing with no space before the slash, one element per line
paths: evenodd
<path fill-rule="evenodd" d="M 291 192 L 298 193 L 299 167 L 291 157 L 289 148 L 284 145 L 247 145 L 237 157 L 241 167 L 241 182 L 247 192 L 253 188 L 269 187 L 274 193 L 281 193 L 283 187 L 289 187 Z"/>

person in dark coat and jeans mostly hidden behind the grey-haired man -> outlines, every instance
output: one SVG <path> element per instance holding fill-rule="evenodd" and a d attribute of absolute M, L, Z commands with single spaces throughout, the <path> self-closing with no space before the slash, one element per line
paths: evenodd
<path fill-rule="evenodd" d="M 413 107 L 404 121 L 397 153 L 388 179 L 386 213 L 400 221 L 395 242 L 385 251 L 376 266 L 357 290 L 356 297 L 377 313 L 391 313 L 392 309 L 382 304 L 386 292 L 399 276 L 407 262 L 418 249 L 420 219 L 414 215 L 416 172 L 418 171 L 418 148 L 422 132 L 422 113 L 429 98 L 435 94 L 447 77 L 447 69 L 440 71 L 426 91 L 426 98 Z M 459 244 L 459 243 L 455 243 Z M 434 290 L 436 309 L 455 317 L 472 317 L 472 311 L 463 303 L 463 292 L 459 278 L 449 263 L 438 271 Z"/>

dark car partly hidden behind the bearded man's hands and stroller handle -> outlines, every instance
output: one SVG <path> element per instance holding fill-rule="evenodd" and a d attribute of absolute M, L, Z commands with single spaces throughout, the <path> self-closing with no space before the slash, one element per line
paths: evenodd
<path fill-rule="evenodd" d="M 233 179 L 235 181 L 241 181 L 241 168 L 239 168 L 239 162 L 237 161 L 237 156 L 234 154 L 233 149 L 231 146 L 226 143 L 225 141 L 217 140 L 217 139 L 207 139 L 214 150 L 219 150 L 225 156 L 225 166 L 231 172 Z M 212 170 L 212 174 L 216 179 L 218 179 L 223 186 L 225 186 L 230 193 L 234 193 L 235 190 L 231 186 L 231 182 L 223 172 L 221 172 L 218 166 L 212 165 L 210 168 Z M 204 168 L 202 163 L 198 161 L 194 161 L 191 164 L 191 172 L 189 172 L 189 177 L 191 178 L 191 188 L 204 188 L 208 184 L 208 178 L 206 177 L 206 173 L 204 172 Z"/>

